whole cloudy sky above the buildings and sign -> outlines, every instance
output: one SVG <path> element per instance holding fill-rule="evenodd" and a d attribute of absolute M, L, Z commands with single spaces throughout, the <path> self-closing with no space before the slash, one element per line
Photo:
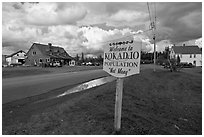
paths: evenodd
<path fill-rule="evenodd" d="M 202 3 L 59 2 L 2 4 L 2 53 L 52 43 L 72 56 L 98 55 L 106 41 L 135 34 L 144 51 L 153 51 L 150 18 L 155 18 L 157 50 L 165 46 L 201 46 Z"/>

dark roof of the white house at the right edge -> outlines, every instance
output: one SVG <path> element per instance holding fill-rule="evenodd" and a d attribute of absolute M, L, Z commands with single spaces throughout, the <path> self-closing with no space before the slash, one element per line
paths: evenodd
<path fill-rule="evenodd" d="M 202 51 L 198 46 L 172 46 L 177 54 L 201 54 Z"/>

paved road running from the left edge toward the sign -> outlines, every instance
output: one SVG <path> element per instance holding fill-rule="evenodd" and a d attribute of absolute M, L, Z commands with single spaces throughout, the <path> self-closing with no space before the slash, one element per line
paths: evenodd
<path fill-rule="evenodd" d="M 39 95 L 63 86 L 75 85 L 108 76 L 102 69 L 59 74 L 15 77 L 2 80 L 2 102 L 8 103 L 29 96 Z"/>

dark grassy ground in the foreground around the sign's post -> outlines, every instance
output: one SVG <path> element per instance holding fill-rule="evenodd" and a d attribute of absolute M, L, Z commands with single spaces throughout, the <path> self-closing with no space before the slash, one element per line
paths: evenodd
<path fill-rule="evenodd" d="M 115 81 L 33 103 L 65 88 L 3 105 L 2 133 L 114 134 Z M 125 78 L 121 134 L 201 135 L 201 68 L 181 72 L 151 68 Z"/>

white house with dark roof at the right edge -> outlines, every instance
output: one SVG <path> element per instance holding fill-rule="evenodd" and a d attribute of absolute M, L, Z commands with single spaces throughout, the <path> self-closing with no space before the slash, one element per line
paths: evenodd
<path fill-rule="evenodd" d="M 195 66 L 202 66 L 202 51 L 198 46 L 172 46 L 170 58 L 180 57 L 181 63 L 192 63 Z"/>

